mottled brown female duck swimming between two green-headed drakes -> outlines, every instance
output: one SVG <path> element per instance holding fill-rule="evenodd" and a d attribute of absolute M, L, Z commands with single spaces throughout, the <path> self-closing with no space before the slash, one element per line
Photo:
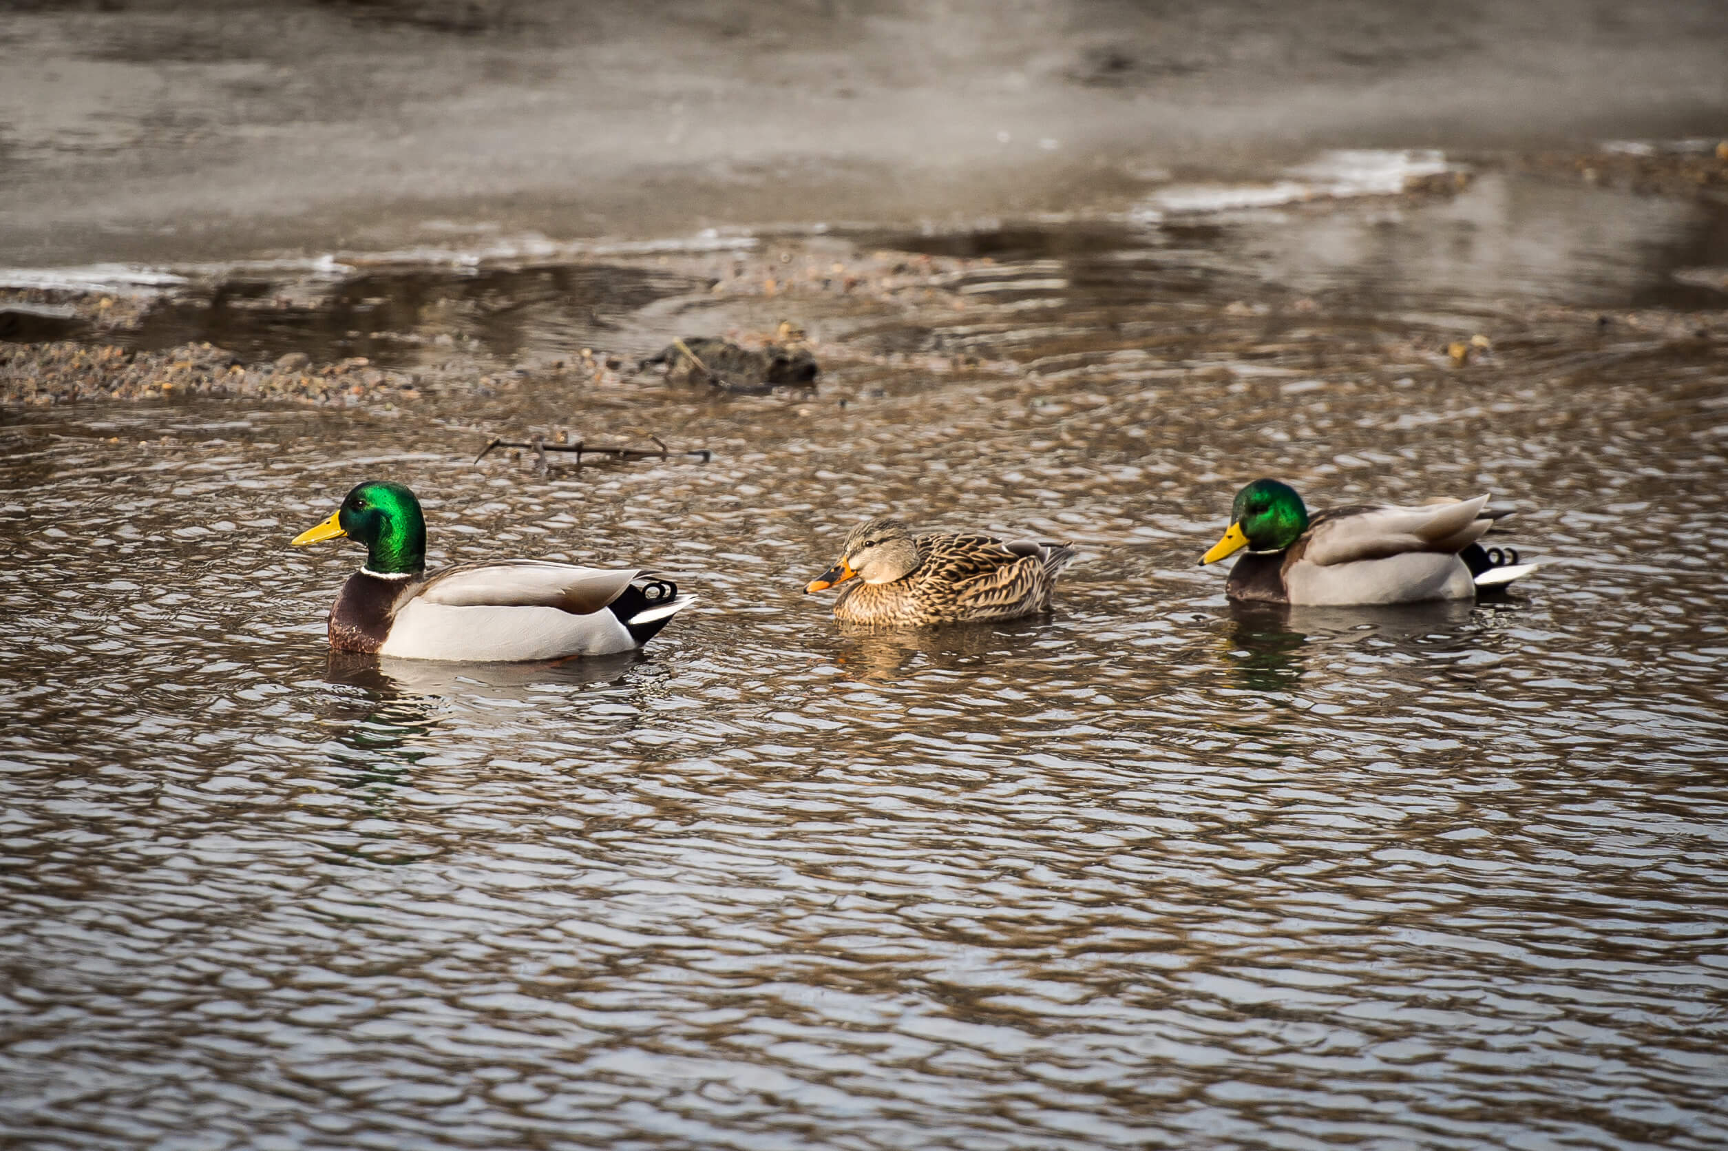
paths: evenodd
<path fill-rule="evenodd" d="M 1073 560 L 1058 543 L 988 536 L 912 536 L 905 524 L 874 518 L 852 529 L 840 562 L 805 591 L 840 593 L 835 619 L 878 627 L 924 627 L 1020 619 L 1051 610 L 1056 574 Z"/>

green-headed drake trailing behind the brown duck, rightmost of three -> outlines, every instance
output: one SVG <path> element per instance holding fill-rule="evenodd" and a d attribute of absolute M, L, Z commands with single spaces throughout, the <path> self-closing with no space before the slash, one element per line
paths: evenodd
<path fill-rule="evenodd" d="M 1488 496 L 1476 496 L 1310 517 L 1294 487 L 1260 479 L 1236 493 L 1230 529 L 1201 563 L 1248 548 L 1223 586 L 1232 600 L 1331 607 L 1467 600 L 1477 588 L 1509 584 L 1540 567 L 1476 543 L 1507 515 L 1486 506 Z"/>

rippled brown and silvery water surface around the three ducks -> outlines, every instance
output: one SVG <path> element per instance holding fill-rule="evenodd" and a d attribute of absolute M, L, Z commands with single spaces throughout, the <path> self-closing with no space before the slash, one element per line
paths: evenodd
<path fill-rule="evenodd" d="M 814 392 L 12 418 L 9 1144 L 1728 1142 L 1725 342 L 1049 235 Z M 472 465 L 555 423 L 717 455 Z M 1493 491 L 1550 567 L 1232 610 L 1196 558 L 1267 472 Z M 365 477 L 435 563 L 702 603 L 638 657 L 332 658 L 359 556 L 287 541 Z M 1047 620 L 840 634 L 800 588 L 890 508 L 1082 560 Z"/>

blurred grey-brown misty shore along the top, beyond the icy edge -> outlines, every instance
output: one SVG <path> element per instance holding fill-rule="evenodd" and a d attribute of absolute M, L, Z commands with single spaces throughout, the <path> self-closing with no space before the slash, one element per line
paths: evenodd
<path fill-rule="evenodd" d="M 0 254 L 1123 211 L 1331 147 L 1721 133 L 1725 59 L 1709 0 L 14 3 Z"/>

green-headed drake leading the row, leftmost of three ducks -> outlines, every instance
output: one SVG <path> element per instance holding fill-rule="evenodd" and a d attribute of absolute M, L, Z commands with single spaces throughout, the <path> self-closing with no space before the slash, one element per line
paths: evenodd
<path fill-rule="evenodd" d="M 651 572 L 544 560 L 458 563 L 429 579 L 425 517 L 401 484 L 361 484 L 294 543 L 335 536 L 366 544 L 366 565 L 330 608 L 337 652 L 472 662 L 610 655 L 648 643 L 693 600 Z"/>

